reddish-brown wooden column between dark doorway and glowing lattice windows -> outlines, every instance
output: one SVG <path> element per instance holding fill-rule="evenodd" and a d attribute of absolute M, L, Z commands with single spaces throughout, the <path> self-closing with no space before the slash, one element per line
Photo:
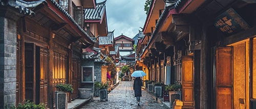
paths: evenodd
<path fill-rule="evenodd" d="M 49 71 L 48 71 L 48 104 L 49 108 L 53 108 L 53 37 L 55 37 L 55 34 L 51 31 L 49 31 L 49 57 L 48 57 L 48 62 L 49 62 Z"/>

